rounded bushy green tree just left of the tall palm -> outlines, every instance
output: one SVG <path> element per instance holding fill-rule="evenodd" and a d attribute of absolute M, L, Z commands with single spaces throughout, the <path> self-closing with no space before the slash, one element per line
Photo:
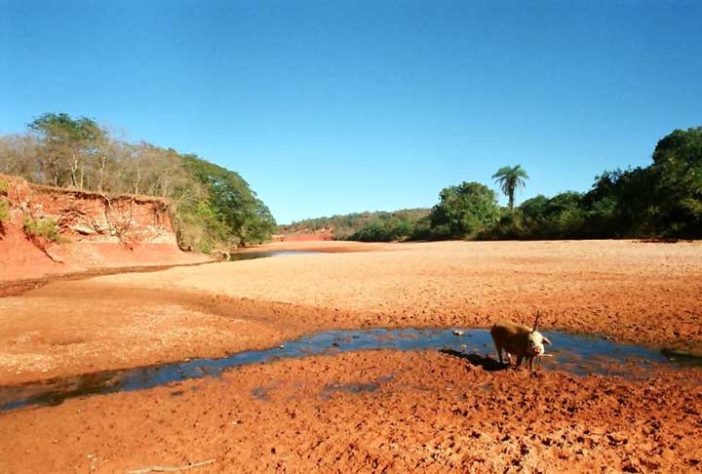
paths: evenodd
<path fill-rule="evenodd" d="M 473 236 L 500 218 L 495 192 L 480 183 L 444 188 L 439 200 L 430 215 L 435 237 Z"/>

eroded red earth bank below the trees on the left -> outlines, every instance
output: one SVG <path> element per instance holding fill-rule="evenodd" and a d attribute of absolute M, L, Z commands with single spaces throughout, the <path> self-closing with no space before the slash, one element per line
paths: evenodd
<path fill-rule="evenodd" d="M 27 226 L 43 224 L 43 231 Z M 57 234 L 49 237 L 49 233 Z M 169 203 L 54 188 L 0 175 L 0 282 L 206 260 L 177 245 Z"/>

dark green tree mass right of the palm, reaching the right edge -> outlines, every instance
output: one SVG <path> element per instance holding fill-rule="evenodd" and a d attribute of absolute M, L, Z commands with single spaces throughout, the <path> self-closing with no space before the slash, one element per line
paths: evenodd
<path fill-rule="evenodd" d="M 702 127 L 661 139 L 646 167 L 605 171 L 586 193 L 536 196 L 486 221 L 482 238 L 702 237 Z"/>

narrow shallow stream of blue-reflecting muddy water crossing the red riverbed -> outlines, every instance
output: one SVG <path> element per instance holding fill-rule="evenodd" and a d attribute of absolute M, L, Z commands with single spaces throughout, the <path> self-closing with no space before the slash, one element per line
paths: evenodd
<path fill-rule="evenodd" d="M 460 335 L 457 335 L 460 334 Z M 566 370 L 578 375 L 600 374 L 645 377 L 652 366 L 682 367 L 697 365 L 699 359 L 666 357 L 642 346 L 619 344 L 602 337 L 565 332 L 544 332 L 553 342 L 542 357 L 541 367 Z M 399 351 L 440 350 L 460 363 L 479 365 L 485 370 L 503 370 L 494 360 L 495 350 L 485 329 L 368 329 L 327 331 L 288 341 L 276 348 L 246 351 L 221 359 L 192 359 L 183 362 L 135 369 L 85 374 L 67 379 L 0 387 L 0 411 L 31 405 L 56 405 L 66 399 L 93 394 L 132 391 L 165 385 L 186 379 L 216 377 L 223 370 L 247 364 L 267 363 L 277 359 L 298 358 L 371 349 Z M 334 391 L 364 392 L 377 389 L 387 380 L 362 386 L 331 385 L 321 397 Z M 266 393 L 252 394 L 265 400 Z"/>

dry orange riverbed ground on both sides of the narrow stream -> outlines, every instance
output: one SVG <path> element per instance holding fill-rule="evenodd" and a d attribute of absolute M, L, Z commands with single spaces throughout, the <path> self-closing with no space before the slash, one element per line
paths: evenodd
<path fill-rule="evenodd" d="M 0 384 L 537 309 L 548 329 L 694 348 L 701 295 L 697 242 L 375 245 L 61 281 L 0 299 Z M 279 361 L 2 413 L 0 471 L 702 472 L 700 382 L 489 372 L 435 351 Z"/>

